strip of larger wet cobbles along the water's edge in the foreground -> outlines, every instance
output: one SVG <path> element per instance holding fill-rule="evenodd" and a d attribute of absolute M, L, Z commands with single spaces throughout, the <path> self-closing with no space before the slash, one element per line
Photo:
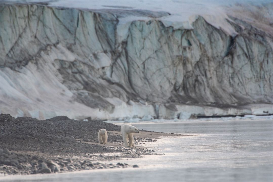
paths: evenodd
<path fill-rule="evenodd" d="M 138 165 L 130 166 L 126 163 L 103 163 L 105 160 L 117 160 L 123 157 L 139 157 L 141 155 L 151 154 L 152 150 L 136 151 L 135 149 L 125 149 L 124 154 L 116 155 L 81 155 L 81 156 L 52 156 L 47 154 L 29 154 L 24 152 L 13 152 L 7 148 L 0 149 L 0 174 L 48 174 L 71 172 L 88 169 L 107 169 L 107 168 L 127 168 L 138 167 Z M 97 162 L 100 161 L 100 162 Z"/>

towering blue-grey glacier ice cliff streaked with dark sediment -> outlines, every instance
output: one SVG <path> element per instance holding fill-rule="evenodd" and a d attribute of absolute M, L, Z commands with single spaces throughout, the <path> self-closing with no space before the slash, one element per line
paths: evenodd
<path fill-rule="evenodd" d="M 251 8 L 267 12 L 273 4 Z M 166 11 L 1 3 L 0 112 L 273 114 L 273 17 L 242 9 L 229 10 L 228 27 L 201 15 L 169 26 Z"/>

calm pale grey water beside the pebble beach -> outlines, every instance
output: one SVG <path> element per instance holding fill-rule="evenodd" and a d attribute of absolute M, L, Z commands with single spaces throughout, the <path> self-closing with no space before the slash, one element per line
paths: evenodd
<path fill-rule="evenodd" d="M 270 181 L 273 121 L 191 121 L 133 124 L 138 129 L 197 136 L 146 144 L 157 153 L 124 161 L 140 168 L 5 177 L 0 181 Z"/>

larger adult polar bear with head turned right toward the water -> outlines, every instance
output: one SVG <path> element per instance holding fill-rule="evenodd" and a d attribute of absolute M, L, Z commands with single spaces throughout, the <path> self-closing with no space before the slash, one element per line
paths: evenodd
<path fill-rule="evenodd" d="M 120 127 L 121 136 L 125 147 L 135 147 L 134 133 L 139 133 L 138 129 L 129 123 L 123 123 Z M 128 144 L 129 139 L 129 144 Z"/>

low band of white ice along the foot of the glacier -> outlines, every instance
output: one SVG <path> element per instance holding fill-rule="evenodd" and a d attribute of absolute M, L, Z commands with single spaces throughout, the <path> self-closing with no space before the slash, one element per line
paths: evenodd
<path fill-rule="evenodd" d="M 87 106 L 75 107 L 69 109 L 70 105 L 64 105 L 58 111 L 44 111 L 40 109 L 22 111 L 18 108 L 0 109 L 0 113 L 9 113 L 11 116 L 31 117 L 37 119 L 49 119 L 60 115 L 66 115 L 69 118 L 83 120 L 91 117 L 96 120 L 128 120 L 130 118 L 138 120 L 152 119 L 194 119 L 201 117 L 224 117 L 224 116 L 242 116 L 242 115 L 271 115 L 273 114 L 273 105 L 271 104 L 250 104 L 240 107 L 218 108 L 212 106 L 195 106 L 195 105 L 173 105 L 159 104 L 149 105 L 130 102 L 127 104 L 119 99 L 108 99 L 109 102 L 115 105 L 112 113 L 101 109 L 88 108 Z M 79 105 L 78 105 L 79 106 Z M 66 108 L 64 110 L 64 108 Z M 57 110 L 57 108 L 56 108 Z"/>

